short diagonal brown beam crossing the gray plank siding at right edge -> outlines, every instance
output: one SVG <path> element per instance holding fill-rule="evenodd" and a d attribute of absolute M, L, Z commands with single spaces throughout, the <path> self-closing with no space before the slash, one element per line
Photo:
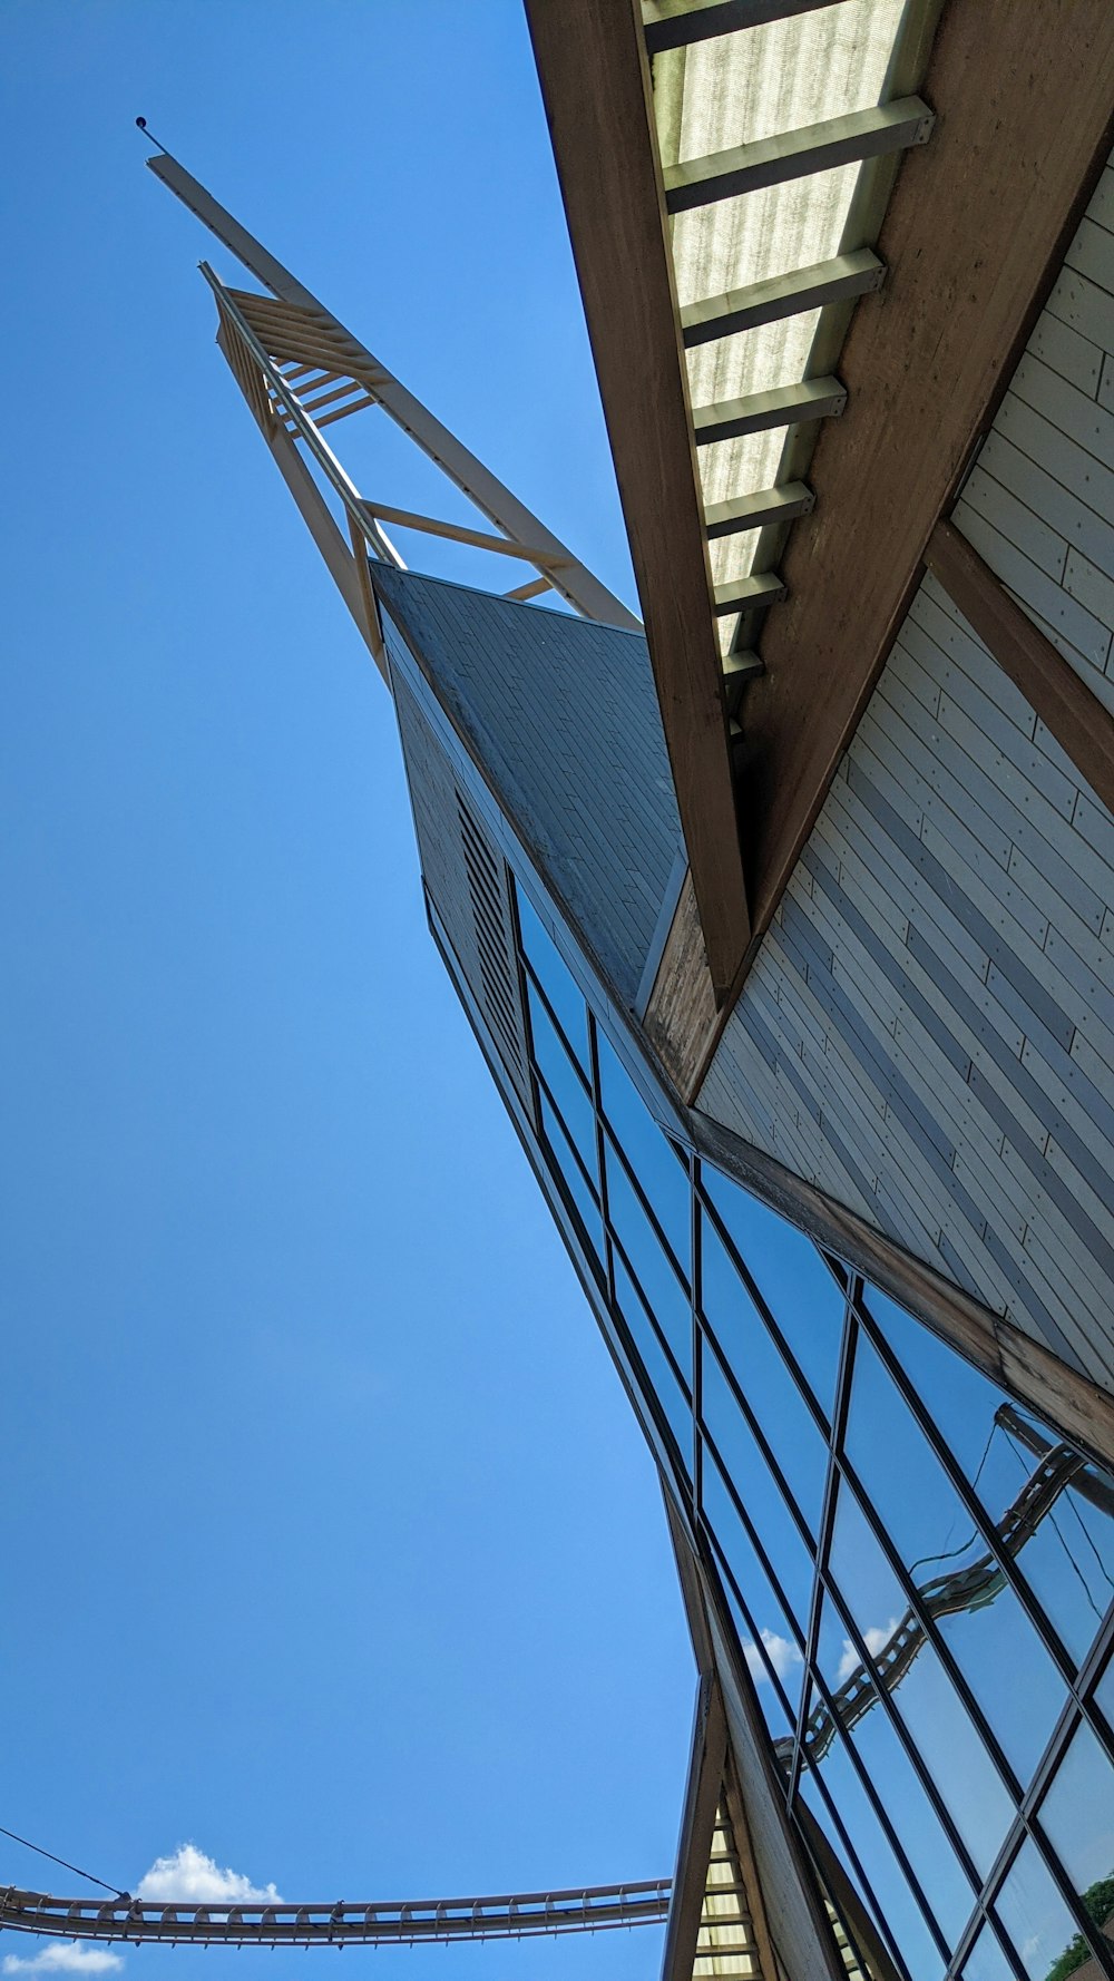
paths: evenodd
<path fill-rule="evenodd" d="M 926 565 L 1003 674 L 1009 674 L 1053 731 L 1094 796 L 1114 812 L 1114 715 L 1009 596 L 1001 578 L 953 523 L 936 525 Z"/>

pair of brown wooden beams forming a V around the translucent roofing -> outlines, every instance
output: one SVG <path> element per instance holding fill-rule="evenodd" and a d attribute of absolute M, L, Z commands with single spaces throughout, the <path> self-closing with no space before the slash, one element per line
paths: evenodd
<path fill-rule="evenodd" d="M 815 511 L 745 687 L 737 812 L 640 18 L 527 16 L 690 854 L 646 1030 L 692 1099 L 1110 151 L 1114 10 L 944 8 L 920 83 L 934 141 L 902 164 L 886 285 L 842 345 L 846 412 L 817 442 Z"/>

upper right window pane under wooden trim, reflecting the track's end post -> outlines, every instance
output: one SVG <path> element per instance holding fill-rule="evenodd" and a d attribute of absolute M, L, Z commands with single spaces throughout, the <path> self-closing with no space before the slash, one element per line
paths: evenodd
<path fill-rule="evenodd" d="M 1053 1626 L 1082 1664 L 1114 1597 L 1114 1478 L 1082 1464 L 1055 1430 L 1013 1403 L 884 1294 L 870 1311 L 993 1521 L 1049 1466 L 1017 1553 Z"/>

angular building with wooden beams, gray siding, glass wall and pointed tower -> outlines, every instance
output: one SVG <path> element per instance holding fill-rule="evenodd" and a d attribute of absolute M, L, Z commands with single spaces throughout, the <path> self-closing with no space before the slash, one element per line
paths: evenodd
<path fill-rule="evenodd" d="M 644 628 L 153 166 L 660 1470 L 664 1981 L 1114 1975 L 1114 22 L 527 12 Z M 484 531 L 363 501 L 371 404 Z"/>

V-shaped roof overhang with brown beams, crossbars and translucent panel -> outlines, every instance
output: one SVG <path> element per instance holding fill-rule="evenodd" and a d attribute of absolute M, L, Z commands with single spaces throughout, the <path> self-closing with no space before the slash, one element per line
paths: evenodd
<path fill-rule="evenodd" d="M 525 4 L 690 858 L 646 1010 L 690 1099 L 1110 149 L 1114 12 Z"/>

